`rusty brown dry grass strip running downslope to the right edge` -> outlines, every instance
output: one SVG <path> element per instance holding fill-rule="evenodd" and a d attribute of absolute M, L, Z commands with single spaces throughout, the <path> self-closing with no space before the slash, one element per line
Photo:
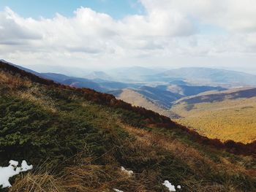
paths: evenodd
<path fill-rule="evenodd" d="M 191 169 L 193 169 L 197 174 L 203 176 L 206 172 L 227 172 L 228 174 L 246 174 L 249 176 L 255 176 L 255 169 L 246 169 L 245 166 L 241 164 L 234 164 L 230 162 L 227 158 L 220 158 L 221 163 L 216 163 L 208 158 L 203 153 L 200 153 L 192 146 L 184 145 L 176 139 L 169 139 L 162 134 L 152 134 L 143 129 L 133 128 L 132 126 L 124 126 L 130 134 L 137 137 L 140 142 L 143 142 L 147 146 L 158 145 L 166 150 L 170 151 L 176 158 L 181 161 L 186 162 Z"/>

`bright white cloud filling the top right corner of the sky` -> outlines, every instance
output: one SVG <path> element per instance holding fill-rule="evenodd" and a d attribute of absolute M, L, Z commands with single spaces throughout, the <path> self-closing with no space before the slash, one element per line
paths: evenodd
<path fill-rule="evenodd" d="M 152 11 L 154 9 L 176 10 L 198 20 L 221 26 L 230 31 L 256 30 L 255 0 L 140 0 Z"/>

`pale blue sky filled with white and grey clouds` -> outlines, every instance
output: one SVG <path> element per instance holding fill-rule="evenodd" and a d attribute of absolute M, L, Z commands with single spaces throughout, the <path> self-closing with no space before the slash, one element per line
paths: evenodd
<path fill-rule="evenodd" d="M 1 0 L 0 58 L 256 73 L 255 18 L 255 0 Z"/>

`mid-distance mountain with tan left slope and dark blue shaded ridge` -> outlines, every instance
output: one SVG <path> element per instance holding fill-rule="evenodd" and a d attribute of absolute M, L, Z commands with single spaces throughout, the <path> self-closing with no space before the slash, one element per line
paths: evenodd
<path fill-rule="evenodd" d="M 211 86 L 157 85 L 150 87 L 143 85 L 139 88 L 124 88 L 117 91 L 110 91 L 109 93 L 135 106 L 154 110 L 170 118 L 179 118 L 179 115 L 170 111 L 170 107 L 172 107 L 173 103 L 178 99 L 205 91 L 222 90 L 226 89 Z"/>

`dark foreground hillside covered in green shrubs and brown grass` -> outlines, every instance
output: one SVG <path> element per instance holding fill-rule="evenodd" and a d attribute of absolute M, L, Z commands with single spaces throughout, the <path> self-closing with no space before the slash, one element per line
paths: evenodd
<path fill-rule="evenodd" d="M 201 137 L 112 95 L 2 62 L 0 125 L 1 166 L 34 165 L 9 191 L 168 191 L 165 180 L 180 191 L 256 189 L 256 142 Z"/>

